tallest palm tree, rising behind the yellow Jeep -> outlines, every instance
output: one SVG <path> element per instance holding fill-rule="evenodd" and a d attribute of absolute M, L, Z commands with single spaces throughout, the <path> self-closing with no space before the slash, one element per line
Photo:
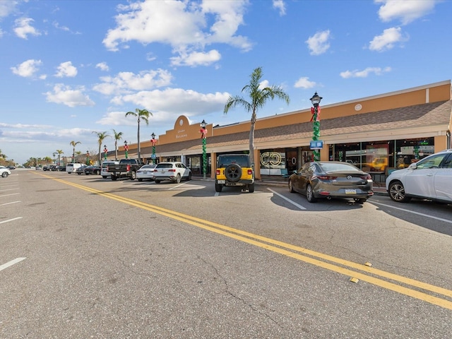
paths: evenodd
<path fill-rule="evenodd" d="M 250 102 L 247 102 L 244 97 L 235 95 L 227 98 L 224 113 L 227 114 L 230 109 L 236 106 L 242 106 L 246 112 L 251 112 L 251 127 L 249 129 L 249 157 L 251 165 L 254 167 L 254 128 L 257 119 L 257 110 L 266 104 L 268 99 L 273 100 L 275 97 L 285 100 L 287 105 L 290 102 L 289 96 L 283 91 L 280 86 L 272 85 L 271 87 L 261 88 L 262 67 L 254 69 L 251 73 L 250 81 L 242 88 L 242 92 L 248 93 Z"/>

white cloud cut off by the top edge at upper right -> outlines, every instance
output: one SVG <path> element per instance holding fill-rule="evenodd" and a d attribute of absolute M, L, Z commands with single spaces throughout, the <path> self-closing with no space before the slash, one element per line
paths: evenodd
<path fill-rule="evenodd" d="M 403 25 L 422 18 L 431 13 L 439 1 L 436 0 L 376 0 L 383 4 L 379 9 L 379 17 L 383 22 L 400 19 Z"/>

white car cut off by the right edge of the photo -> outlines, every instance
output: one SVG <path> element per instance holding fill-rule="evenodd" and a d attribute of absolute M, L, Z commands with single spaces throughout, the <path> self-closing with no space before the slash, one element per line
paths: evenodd
<path fill-rule="evenodd" d="M 452 203 L 452 149 L 391 172 L 386 178 L 386 191 L 398 203 L 408 203 L 411 198 Z"/>

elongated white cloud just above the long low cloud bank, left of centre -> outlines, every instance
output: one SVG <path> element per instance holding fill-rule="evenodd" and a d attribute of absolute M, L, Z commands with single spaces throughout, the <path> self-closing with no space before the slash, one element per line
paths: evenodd
<path fill-rule="evenodd" d="M 163 69 L 142 71 L 139 74 L 121 72 L 117 76 L 102 76 L 103 81 L 93 86 L 93 90 L 104 95 L 129 93 L 131 90 L 149 90 L 171 84 L 172 75 Z"/>

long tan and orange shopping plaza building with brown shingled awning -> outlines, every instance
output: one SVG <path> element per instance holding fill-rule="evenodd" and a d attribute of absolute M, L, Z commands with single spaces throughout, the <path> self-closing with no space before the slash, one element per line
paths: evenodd
<path fill-rule="evenodd" d="M 326 95 L 324 93 L 319 93 Z M 383 182 L 392 169 L 407 167 L 422 157 L 452 148 L 451 81 L 321 106 L 321 160 L 350 162 Z M 250 118 L 251 118 L 251 114 Z M 256 179 L 283 177 L 313 160 L 311 109 L 258 118 L 254 133 Z M 184 115 L 174 129 L 141 141 L 144 162 L 182 161 L 194 175 L 203 175 L 200 122 Z M 207 125 L 208 177 L 215 177 L 220 154 L 249 153 L 250 121 L 227 126 Z M 124 146 L 119 148 L 124 157 Z M 136 157 L 137 145 L 129 145 Z M 108 154 L 109 159 L 114 153 Z"/>

